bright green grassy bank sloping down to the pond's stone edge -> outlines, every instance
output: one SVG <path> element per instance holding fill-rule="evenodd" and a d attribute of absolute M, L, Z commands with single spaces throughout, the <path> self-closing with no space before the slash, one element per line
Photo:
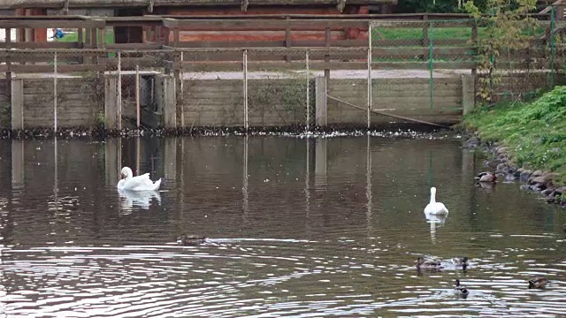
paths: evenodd
<path fill-rule="evenodd" d="M 533 102 L 502 102 L 464 117 L 484 141 L 500 141 L 513 161 L 530 169 L 550 170 L 565 184 L 566 86 L 555 87 Z"/>

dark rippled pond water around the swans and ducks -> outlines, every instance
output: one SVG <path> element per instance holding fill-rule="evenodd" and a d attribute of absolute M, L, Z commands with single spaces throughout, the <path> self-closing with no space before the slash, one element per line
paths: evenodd
<path fill-rule="evenodd" d="M 0 314 L 566 315 L 564 212 L 516 184 L 475 186 L 483 163 L 462 143 L 2 140 Z M 124 165 L 161 191 L 121 196 Z M 430 186 L 443 222 L 424 216 Z M 464 255 L 466 272 L 415 267 Z M 529 290 L 534 275 L 551 283 Z"/>

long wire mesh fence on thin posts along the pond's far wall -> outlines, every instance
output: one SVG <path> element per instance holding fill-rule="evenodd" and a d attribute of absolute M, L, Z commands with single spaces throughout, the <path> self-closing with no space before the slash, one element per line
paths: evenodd
<path fill-rule="evenodd" d="M 185 132 L 449 124 L 484 98 L 562 84 L 564 8 L 548 8 L 520 30 L 528 45 L 492 50 L 494 26 L 475 19 L 373 20 L 357 47 L 333 46 L 343 34 L 332 31 L 326 48 L 4 49 L 0 124 Z"/>

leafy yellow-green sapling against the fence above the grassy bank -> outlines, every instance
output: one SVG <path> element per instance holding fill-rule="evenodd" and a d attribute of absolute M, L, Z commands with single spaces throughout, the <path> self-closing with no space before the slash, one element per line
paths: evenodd
<path fill-rule="evenodd" d="M 478 72 L 484 77 L 479 79 L 481 87 L 478 95 L 486 101 L 493 100 L 494 85 L 501 82 L 501 73 L 496 72 L 497 59 L 509 61 L 511 53 L 517 49 L 527 49 L 538 33 L 538 23 L 529 12 L 536 9 L 536 0 L 488 0 L 487 6 L 490 15 L 482 15 L 482 11 L 473 1 L 464 4 L 466 11 L 477 19 L 481 26 L 486 26 L 486 36 L 479 36 L 476 48 L 478 49 Z M 503 58 L 504 57 L 504 58 Z"/>

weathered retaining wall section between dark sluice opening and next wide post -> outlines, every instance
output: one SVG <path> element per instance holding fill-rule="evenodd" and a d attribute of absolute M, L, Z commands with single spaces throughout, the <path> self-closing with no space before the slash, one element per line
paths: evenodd
<path fill-rule="evenodd" d="M 304 124 L 306 79 L 249 79 L 249 125 Z M 241 126 L 243 80 L 189 79 L 182 95 L 186 126 Z M 314 109 L 314 89 L 310 90 Z"/>

